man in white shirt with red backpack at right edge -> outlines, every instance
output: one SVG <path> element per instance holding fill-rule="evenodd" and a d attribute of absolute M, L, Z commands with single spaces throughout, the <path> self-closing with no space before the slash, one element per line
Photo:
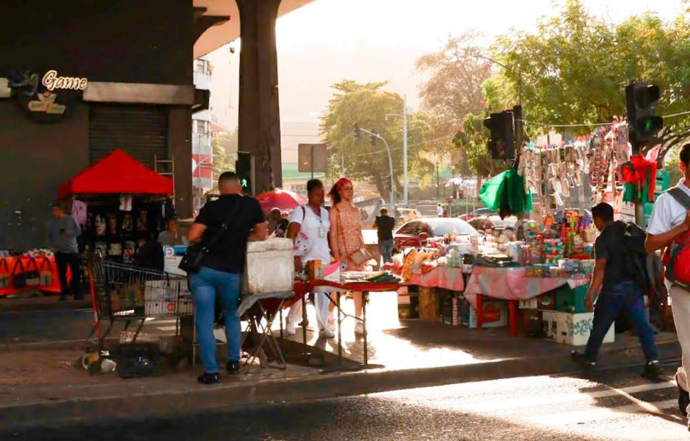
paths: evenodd
<path fill-rule="evenodd" d="M 673 322 L 682 348 L 685 372 L 690 369 L 690 143 L 680 149 L 684 178 L 659 196 L 649 220 L 647 252 L 666 249 L 667 286 L 670 285 Z M 688 409 L 690 411 L 690 407 Z"/>

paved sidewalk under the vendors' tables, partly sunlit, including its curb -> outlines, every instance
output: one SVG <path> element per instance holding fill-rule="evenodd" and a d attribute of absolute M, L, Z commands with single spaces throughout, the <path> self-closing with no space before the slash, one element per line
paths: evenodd
<path fill-rule="evenodd" d="M 442 323 L 399 322 L 395 295 L 372 298 L 368 348 L 370 362 L 384 365 L 368 371 L 322 373 L 308 365 L 288 365 L 285 371 L 250 367 L 245 375 L 221 376 L 221 384 L 197 384 L 189 367 L 157 378 L 121 380 L 115 373 L 89 376 L 77 368 L 83 345 L 55 349 L 0 351 L 0 428 L 21 424 L 53 424 L 66 420 L 146 418 L 166 413 L 237 407 L 270 402 L 313 400 L 517 376 L 575 373 L 571 346 L 548 340 L 513 337 L 507 328 L 476 331 Z M 397 305 L 395 305 L 397 306 Z M 351 308 L 347 302 L 346 309 Z M 313 309 L 310 321 L 315 323 Z M 362 360 L 363 342 L 355 338 L 353 322 L 344 322 L 344 354 Z M 298 340 L 297 336 L 290 340 Z M 657 336 L 662 359 L 680 357 L 670 334 Z M 310 352 L 333 365 L 334 340 L 308 331 Z M 299 345 L 290 360 L 302 362 Z M 294 349 L 297 349 L 295 353 Z M 641 365 L 639 342 L 618 334 L 602 347 L 601 368 Z M 672 361 L 673 362 L 673 361 Z M 201 368 L 197 369 L 200 371 Z M 669 375 L 673 372 L 669 369 Z"/>

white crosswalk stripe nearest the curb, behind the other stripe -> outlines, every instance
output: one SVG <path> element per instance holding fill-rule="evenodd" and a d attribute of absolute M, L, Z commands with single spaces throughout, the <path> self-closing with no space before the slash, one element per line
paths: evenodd
<path fill-rule="evenodd" d="M 638 386 L 622 387 L 621 389 L 607 389 L 596 392 L 578 392 L 578 393 L 564 393 L 562 395 L 547 395 L 538 396 L 535 398 L 528 398 L 524 400 L 503 400 L 500 402 L 477 402 L 462 404 L 464 409 L 469 409 L 475 412 L 491 412 L 491 411 L 506 411 L 511 409 L 524 409 L 526 407 L 545 406 L 547 404 L 556 404 L 564 402 L 573 402 L 580 400 L 595 400 L 597 398 L 605 398 L 611 396 L 625 396 L 633 399 L 631 393 L 639 393 L 646 391 L 655 391 L 659 389 L 669 389 L 676 387 L 676 382 L 668 381 L 662 383 L 640 384 Z"/>

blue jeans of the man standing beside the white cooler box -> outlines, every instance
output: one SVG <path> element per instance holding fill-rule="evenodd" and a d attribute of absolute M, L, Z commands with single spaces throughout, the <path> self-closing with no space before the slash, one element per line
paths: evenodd
<path fill-rule="evenodd" d="M 213 318 L 216 295 L 225 308 L 225 335 L 228 338 L 228 361 L 239 361 L 239 342 L 242 331 L 237 317 L 239 283 L 241 274 L 230 274 L 208 267 L 201 267 L 197 274 L 190 274 L 190 285 L 197 314 L 197 340 L 201 348 L 204 371 L 218 372 L 216 341 L 213 336 Z"/>

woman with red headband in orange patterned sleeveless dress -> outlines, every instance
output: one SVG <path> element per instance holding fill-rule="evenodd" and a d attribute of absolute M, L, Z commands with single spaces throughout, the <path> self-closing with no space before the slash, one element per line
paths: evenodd
<path fill-rule="evenodd" d="M 366 265 L 358 265 L 352 259 L 353 254 L 364 247 L 362 217 L 359 214 L 359 209 L 352 203 L 355 197 L 352 181 L 348 178 L 340 178 L 333 185 L 328 196 L 333 201 L 333 209 L 329 214 L 331 220 L 331 232 L 329 234 L 333 257 L 335 260 L 339 260 L 341 265 L 344 265 L 345 271 L 362 271 Z M 359 318 L 362 316 L 362 293 L 353 293 L 353 298 L 355 300 L 355 316 Z M 355 334 L 364 334 L 364 326 L 359 320 L 355 325 Z"/>

